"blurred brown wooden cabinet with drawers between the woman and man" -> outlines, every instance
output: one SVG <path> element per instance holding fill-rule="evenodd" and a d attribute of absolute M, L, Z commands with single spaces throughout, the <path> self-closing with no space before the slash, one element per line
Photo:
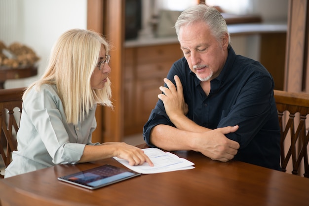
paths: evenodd
<path fill-rule="evenodd" d="M 133 46 L 124 56 L 124 135 L 143 132 L 172 64 L 183 57 L 179 43 Z"/>

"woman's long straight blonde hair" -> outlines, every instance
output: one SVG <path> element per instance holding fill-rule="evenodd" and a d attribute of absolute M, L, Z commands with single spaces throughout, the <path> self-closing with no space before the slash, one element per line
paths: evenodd
<path fill-rule="evenodd" d="M 109 78 L 101 90 L 90 86 L 91 75 L 98 69 L 101 45 L 108 55 L 110 46 L 98 33 L 73 29 L 62 34 L 53 46 L 45 73 L 27 88 L 23 99 L 32 87 L 39 90 L 42 84 L 56 85 L 67 123 L 75 125 L 96 103 L 112 107 Z"/>

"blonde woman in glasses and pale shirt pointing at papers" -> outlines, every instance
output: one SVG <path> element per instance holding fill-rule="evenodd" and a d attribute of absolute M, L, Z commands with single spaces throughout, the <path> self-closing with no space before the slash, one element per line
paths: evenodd
<path fill-rule="evenodd" d="M 18 148 L 5 178 L 113 156 L 153 166 L 137 147 L 91 142 L 96 105 L 112 107 L 109 61 L 109 44 L 101 35 L 74 29 L 60 36 L 45 73 L 24 93 Z"/>

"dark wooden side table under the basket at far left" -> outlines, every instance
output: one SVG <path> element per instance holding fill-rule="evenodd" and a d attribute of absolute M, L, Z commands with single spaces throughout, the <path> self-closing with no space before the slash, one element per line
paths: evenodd
<path fill-rule="evenodd" d="M 0 89 L 4 89 L 4 82 L 8 79 L 26 78 L 37 74 L 38 68 L 34 66 L 16 69 L 0 67 Z"/>

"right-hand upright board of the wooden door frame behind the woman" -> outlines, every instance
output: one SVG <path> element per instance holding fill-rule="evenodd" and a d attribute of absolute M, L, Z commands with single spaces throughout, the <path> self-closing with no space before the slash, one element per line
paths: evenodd
<path fill-rule="evenodd" d="M 105 0 L 103 34 L 112 44 L 109 63 L 112 71 L 112 95 L 114 109 L 104 107 L 104 141 L 122 141 L 123 137 L 123 41 L 124 41 L 124 3 L 123 0 Z"/>

